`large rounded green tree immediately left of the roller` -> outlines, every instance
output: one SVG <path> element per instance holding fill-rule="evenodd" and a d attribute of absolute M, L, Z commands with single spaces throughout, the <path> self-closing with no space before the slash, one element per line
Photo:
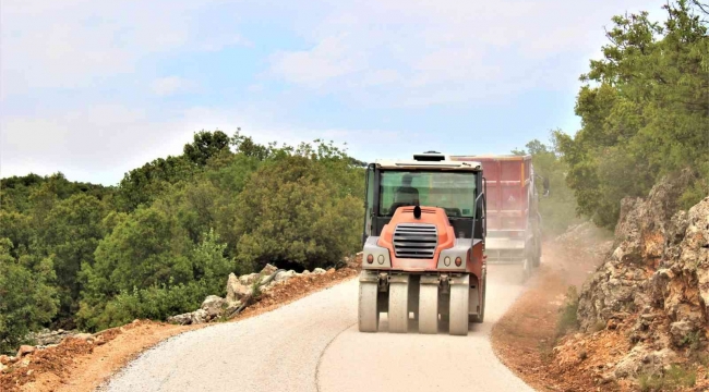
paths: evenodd
<path fill-rule="evenodd" d="M 323 267 L 357 247 L 361 198 L 338 189 L 326 167 L 289 156 L 262 166 L 251 176 L 238 196 L 235 217 L 242 270 L 266 262 Z"/>

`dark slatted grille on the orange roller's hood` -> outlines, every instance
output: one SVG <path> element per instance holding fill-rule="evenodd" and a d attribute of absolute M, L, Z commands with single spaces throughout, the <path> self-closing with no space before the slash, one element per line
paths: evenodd
<path fill-rule="evenodd" d="M 396 257 L 430 259 L 438 245 L 438 231 L 434 224 L 400 223 L 394 230 Z"/>

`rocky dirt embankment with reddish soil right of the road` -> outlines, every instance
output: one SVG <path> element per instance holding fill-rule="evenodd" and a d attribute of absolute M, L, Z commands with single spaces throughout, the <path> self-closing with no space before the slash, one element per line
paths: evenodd
<path fill-rule="evenodd" d="M 676 189 L 624 200 L 612 242 L 545 244 L 493 330 L 503 363 L 542 391 L 709 391 L 709 198 L 671 213 Z"/>

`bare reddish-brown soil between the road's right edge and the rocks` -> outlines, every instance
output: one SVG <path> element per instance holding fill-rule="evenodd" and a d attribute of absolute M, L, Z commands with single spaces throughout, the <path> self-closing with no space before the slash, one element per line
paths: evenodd
<path fill-rule="evenodd" d="M 604 377 L 608 368 L 632 348 L 625 330 L 633 320 L 626 324 L 611 320 L 608 326 L 599 326 L 599 331 L 586 334 L 558 330 L 569 286 L 580 291 L 586 278 L 602 262 L 609 245 L 597 238 L 546 243 L 542 265 L 527 291 L 492 330 L 497 357 L 539 391 L 640 390 L 633 380 Z M 696 373 L 695 387 L 666 390 L 709 391 L 707 367 L 698 366 Z"/>

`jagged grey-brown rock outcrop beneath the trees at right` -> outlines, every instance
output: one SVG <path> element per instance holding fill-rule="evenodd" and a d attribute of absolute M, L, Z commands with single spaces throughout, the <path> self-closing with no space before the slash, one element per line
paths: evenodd
<path fill-rule="evenodd" d="M 709 197 L 688 211 L 677 199 L 688 171 L 656 185 L 647 199 L 626 198 L 613 252 L 584 284 L 581 330 L 629 326 L 633 350 L 616 377 L 658 371 L 682 348 L 704 346 L 709 327 Z"/>

